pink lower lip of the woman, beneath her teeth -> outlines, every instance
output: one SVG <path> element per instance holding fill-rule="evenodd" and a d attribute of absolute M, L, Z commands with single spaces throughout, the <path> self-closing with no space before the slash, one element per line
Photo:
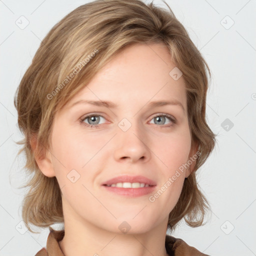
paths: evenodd
<path fill-rule="evenodd" d="M 123 195 L 127 197 L 137 197 L 145 194 L 152 193 L 155 189 L 154 186 L 138 187 L 138 188 L 123 188 L 116 186 L 106 186 L 103 185 L 108 191 L 115 193 L 117 195 Z"/>

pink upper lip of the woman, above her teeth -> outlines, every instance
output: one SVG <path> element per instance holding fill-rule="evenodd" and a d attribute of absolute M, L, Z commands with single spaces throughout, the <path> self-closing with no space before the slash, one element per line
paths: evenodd
<path fill-rule="evenodd" d="M 156 185 L 156 183 L 152 179 L 141 176 L 141 175 L 136 175 L 136 176 L 119 175 L 104 181 L 101 185 L 111 185 L 111 184 L 116 184 L 118 182 L 130 182 L 130 183 L 139 182 L 139 183 L 145 183 L 148 185 Z"/>

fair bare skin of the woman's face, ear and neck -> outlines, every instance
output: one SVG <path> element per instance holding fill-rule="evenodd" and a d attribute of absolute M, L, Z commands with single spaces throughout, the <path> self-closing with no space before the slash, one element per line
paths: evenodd
<path fill-rule="evenodd" d="M 167 255 L 168 215 L 191 168 L 180 172 L 154 202 L 148 197 L 192 155 L 185 83 L 182 76 L 174 80 L 169 75 L 174 67 L 162 43 L 129 45 L 56 113 L 50 150 L 36 161 L 44 175 L 56 176 L 61 188 L 65 236 L 59 245 L 65 256 Z M 71 107 L 81 99 L 107 100 L 118 107 Z M 170 99 L 184 109 L 174 104 L 148 108 L 150 101 Z M 96 128 L 80 122 L 91 113 L 102 116 Z M 123 118 L 131 124 L 125 132 L 118 126 Z M 67 178 L 72 169 L 80 175 L 74 183 Z M 133 198 L 100 185 L 119 174 L 144 175 L 157 185 L 153 193 Z M 126 233 L 118 228 L 123 221 L 130 225 Z"/>

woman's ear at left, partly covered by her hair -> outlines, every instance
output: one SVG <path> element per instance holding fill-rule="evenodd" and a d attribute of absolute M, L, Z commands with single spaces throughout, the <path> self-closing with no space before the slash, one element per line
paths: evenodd
<path fill-rule="evenodd" d="M 34 153 L 35 161 L 41 172 L 47 177 L 54 177 L 55 172 L 52 164 L 51 153 L 46 150 L 45 152 L 38 152 L 37 135 L 32 135 L 30 138 L 30 146 Z"/>

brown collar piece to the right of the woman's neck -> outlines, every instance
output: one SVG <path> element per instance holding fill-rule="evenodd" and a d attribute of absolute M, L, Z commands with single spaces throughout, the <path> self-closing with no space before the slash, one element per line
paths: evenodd
<path fill-rule="evenodd" d="M 171 235 L 166 235 L 165 237 L 165 248 L 170 256 L 209 256 L 195 247 L 189 246 L 184 240 Z"/>

